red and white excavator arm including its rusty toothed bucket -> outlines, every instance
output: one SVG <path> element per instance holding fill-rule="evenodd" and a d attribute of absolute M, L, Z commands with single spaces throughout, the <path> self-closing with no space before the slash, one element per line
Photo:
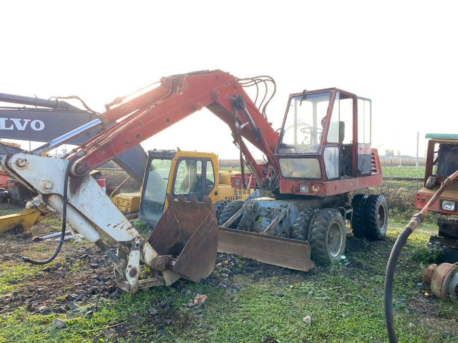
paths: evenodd
<path fill-rule="evenodd" d="M 114 103 L 122 100 L 118 98 Z M 178 201 L 168 196 L 169 207 L 146 241 L 88 172 L 203 107 L 229 125 L 258 185 L 271 185 L 271 178 L 280 175 L 273 157 L 278 134 L 238 79 L 218 70 L 164 77 L 158 87 L 108 109 L 97 119 L 33 150 L 33 154 L 7 155 L 1 164 L 39 194 L 29 208 L 47 206 L 65 218 L 79 237 L 108 255 L 115 264 L 121 289 L 136 292 L 170 285 L 180 276 L 199 281 L 213 269 L 218 245 L 218 227 L 209 197 L 199 203 L 192 196 L 190 202 L 183 196 Z M 111 123 L 111 127 L 74 149 L 67 159 L 39 156 Z M 256 163 L 242 137 L 264 152 L 265 164 Z M 102 237 L 118 246 L 116 254 Z M 149 267 L 152 278 L 140 275 L 140 262 Z"/>

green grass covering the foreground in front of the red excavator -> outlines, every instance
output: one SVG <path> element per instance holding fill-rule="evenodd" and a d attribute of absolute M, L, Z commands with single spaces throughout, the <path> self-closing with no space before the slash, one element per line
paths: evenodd
<path fill-rule="evenodd" d="M 383 280 L 392 244 L 408 221 L 390 221 L 388 241 L 372 243 L 347 237 L 347 261 L 330 267 L 318 266 L 309 273 L 282 273 L 268 277 L 242 274 L 233 279 L 241 290 L 233 297 L 215 288 L 188 282 L 187 288 L 208 296 L 202 318 L 194 318 L 183 304 L 189 301 L 175 288 L 157 287 L 147 292 L 123 294 L 116 303 L 102 299 L 90 318 L 84 313 L 91 303 L 76 312 L 58 315 L 66 319 L 61 330 L 51 322 L 57 315 L 30 314 L 24 308 L 0 315 L 0 343 L 3 342 L 386 342 L 383 315 Z M 394 317 L 400 342 L 441 342 L 442 331 L 457 333 L 458 305 L 425 297 L 424 267 L 412 261 L 436 227 L 423 224 L 409 239 L 398 263 L 394 286 Z M 4 268 L 4 264 L 2 265 Z M 11 268 L 0 274 L 8 278 L 32 277 L 33 269 Z M 6 272 L 5 272 L 6 271 Z M 0 280 L 4 284 L 6 276 Z M 271 293 L 283 293 L 283 297 Z M 173 296 L 173 322 L 164 325 L 169 337 L 157 337 L 161 315 L 147 313 L 160 297 Z M 81 306 L 81 304 L 79 304 Z M 312 316 L 312 325 L 302 318 Z M 111 320 L 123 322 L 123 337 L 107 329 Z M 455 328 L 454 328 L 455 327 Z M 455 336 L 454 339 L 456 339 Z M 449 342 L 457 342 L 449 340 Z"/>

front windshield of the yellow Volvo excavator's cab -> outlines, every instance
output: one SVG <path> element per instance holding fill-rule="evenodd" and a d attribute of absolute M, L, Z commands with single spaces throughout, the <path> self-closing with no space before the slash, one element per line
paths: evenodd
<path fill-rule="evenodd" d="M 145 218 L 158 221 L 162 216 L 171 164 L 171 160 L 151 160 L 140 204 L 140 212 Z"/>

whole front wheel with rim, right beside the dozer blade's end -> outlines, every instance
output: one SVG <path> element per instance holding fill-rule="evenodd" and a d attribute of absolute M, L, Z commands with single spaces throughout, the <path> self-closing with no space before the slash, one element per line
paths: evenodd
<path fill-rule="evenodd" d="M 312 259 L 323 264 L 340 261 L 345 253 L 345 221 L 333 208 L 319 211 L 310 224 Z"/>

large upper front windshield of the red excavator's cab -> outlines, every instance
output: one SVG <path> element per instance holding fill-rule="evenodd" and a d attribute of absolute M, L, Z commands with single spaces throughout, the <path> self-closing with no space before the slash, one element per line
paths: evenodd
<path fill-rule="evenodd" d="M 322 120 L 326 117 L 331 92 L 291 98 L 281 132 L 278 153 L 317 153 L 322 140 Z"/>

